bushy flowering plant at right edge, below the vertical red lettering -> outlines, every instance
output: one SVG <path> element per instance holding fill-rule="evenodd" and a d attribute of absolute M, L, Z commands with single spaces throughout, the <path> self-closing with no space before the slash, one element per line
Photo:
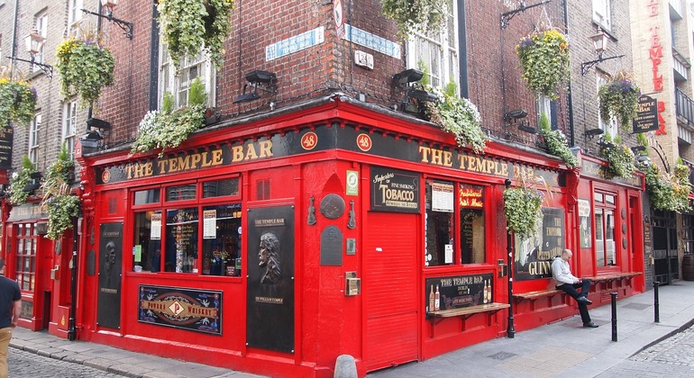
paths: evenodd
<path fill-rule="evenodd" d="M 646 189 L 651 198 L 651 206 L 662 211 L 686 212 L 689 206 L 689 167 L 678 162 L 674 174 L 661 175 L 657 166 L 646 168 Z"/>

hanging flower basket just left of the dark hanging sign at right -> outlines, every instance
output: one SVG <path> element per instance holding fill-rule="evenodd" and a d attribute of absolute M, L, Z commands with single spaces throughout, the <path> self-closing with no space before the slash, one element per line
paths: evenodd
<path fill-rule="evenodd" d="M 610 81 L 600 85 L 598 99 L 603 121 L 616 116 L 623 128 L 628 129 L 636 116 L 639 87 L 626 71 L 619 71 Z"/>

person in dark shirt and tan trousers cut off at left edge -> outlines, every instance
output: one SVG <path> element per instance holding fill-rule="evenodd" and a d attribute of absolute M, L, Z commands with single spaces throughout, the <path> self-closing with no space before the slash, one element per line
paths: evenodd
<path fill-rule="evenodd" d="M 19 285 L 5 277 L 5 260 L 0 258 L 0 378 L 7 378 L 7 348 L 22 311 L 21 300 Z"/>

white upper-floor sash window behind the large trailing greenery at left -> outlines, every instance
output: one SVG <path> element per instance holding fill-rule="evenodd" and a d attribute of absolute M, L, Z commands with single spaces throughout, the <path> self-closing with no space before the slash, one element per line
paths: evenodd
<path fill-rule="evenodd" d="M 215 69 L 212 63 L 203 54 L 198 54 L 194 58 L 183 58 L 180 61 L 178 71 L 174 67 L 169 52 L 161 48 L 160 51 L 160 82 L 159 82 L 159 105 L 164 98 L 164 94 L 170 93 L 174 97 L 174 104 L 184 106 L 188 103 L 188 90 L 190 84 L 196 77 L 205 84 L 207 92 L 207 103 L 215 103 Z"/>

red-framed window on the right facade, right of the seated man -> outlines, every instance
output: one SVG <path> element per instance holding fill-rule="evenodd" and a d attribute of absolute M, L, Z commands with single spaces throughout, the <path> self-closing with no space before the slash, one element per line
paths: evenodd
<path fill-rule="evenodd" d="M 598 193 L 595 202 L 595 260 L 600 266 L 616 266 L 615 213 L 616 196 Z"/>

